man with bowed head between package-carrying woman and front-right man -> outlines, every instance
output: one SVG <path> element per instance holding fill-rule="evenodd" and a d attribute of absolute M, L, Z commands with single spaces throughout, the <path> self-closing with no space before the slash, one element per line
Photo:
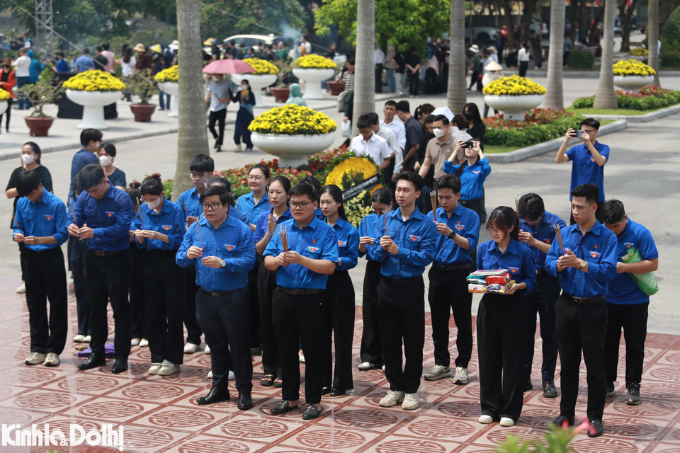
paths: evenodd
<path fill-rule="evenodd" d="M 557 335 L 555 333 L 555 302 L 560 297 L 560 281 L 545 270 L 545 255 L 555 241 L 554 225 L 565 228 L 567 224 L 555 214 L 545 210 L 543 199 L 535 193 L 523 195 L 517 203 L 521 229 L 519 240 L 529 246 L 536 262 L 536 287 L 524 296 L 526 309 L 526 355 L 524 358 L 524 391 L 533 389 L 531 365 L 533 363 L 536 314 L 540 320 L 540 338 L 543 340 L 543 362 L 540 367 L 543 396 L 557 398 L 555 367 L 557 366 Z"/>

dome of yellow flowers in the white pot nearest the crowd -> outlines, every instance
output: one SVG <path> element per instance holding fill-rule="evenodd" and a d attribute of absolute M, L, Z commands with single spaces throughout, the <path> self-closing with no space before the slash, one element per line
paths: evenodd
<path fill-rule="evenodd" d="M 286 104 L 256 117 L 248 127 L 251 132 L 281 135 L 328 134 L 336 130 L 335 121 L 309 107 Z"/>

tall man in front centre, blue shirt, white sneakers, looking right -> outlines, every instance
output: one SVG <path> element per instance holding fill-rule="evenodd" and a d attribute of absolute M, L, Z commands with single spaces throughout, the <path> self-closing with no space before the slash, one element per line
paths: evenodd
<path fill-rule="evenodd" d="M 378 323 L 390 390 L 380 406 L 402 403 L 402 409 L 419 407 L 418 387 L 423 370 L 425 344 L 425 266 L 436 252 L 437 227 L 431 217 L 416 208 L 424 181 L 418 173 L 402 171 L 397 181 L 399 207 L 378 222 L 380 243 L 371 248 L 382 262 L 378 284 Z M 387 226 L 387 230 L 385 229 Z M 406 367 L 402 370 L 402 342 Z"/>

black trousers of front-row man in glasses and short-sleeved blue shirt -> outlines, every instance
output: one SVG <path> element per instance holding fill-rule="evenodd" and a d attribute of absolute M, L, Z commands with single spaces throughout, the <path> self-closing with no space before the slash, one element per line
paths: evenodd
<path fill-rule="evenodd" d="M 289 296 L 274 290 L 274 330 L 281 355 L 281 396 L 285 401 L 300 399 L 300 359 L 297 350 L 305 351 L 305 401 L 321 402 L 322 358 L 321 336 L 314 325 L 322 319 L 324 294 Z"/>

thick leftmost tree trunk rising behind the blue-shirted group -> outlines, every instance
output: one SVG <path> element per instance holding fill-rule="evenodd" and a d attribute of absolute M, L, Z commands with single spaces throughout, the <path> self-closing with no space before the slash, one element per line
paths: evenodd
<path fill-rule="evenodd" d="M 172 199 L 193 187 L 189 174 L 191 159 L 198 154 L 210 154 L 208 130 L 205 127 L 203 98 L 203 62 L 201 62 L 200 2 L 177 0 L 177 39 L 180 52 L 179 118 L 177 132 L 177 168 Z"/>

